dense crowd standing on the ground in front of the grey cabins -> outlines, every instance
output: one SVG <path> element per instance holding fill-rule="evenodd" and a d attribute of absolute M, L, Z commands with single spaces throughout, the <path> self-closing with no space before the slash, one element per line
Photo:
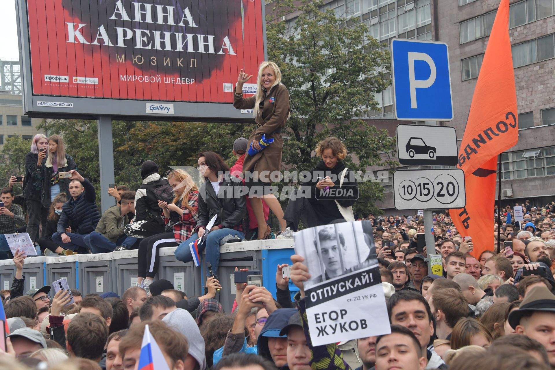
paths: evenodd
<path fill-rule="evenodd" d="M 310 339 L 304 292 L 310 271 L 299 255 L 291 256 L 290 278 L 282 274 L 289 264 L 276 268 L 275 296 L 268 287 L 238 283 L 226 313 L 215 299 L 221 286 L 214 277 L 200 297 L 166 280 L 150 283 L 148 292 L 129 287 L 122 297 L 83 297 L 75 289 L 51 296 L 50 286 L 24 293 L 26 256 L 17 252 L 12 288 L 0 292 L 10 333 L 0 362 L 138 369 L 148 325 L 175 370 L 555 368 L 551 217 L 548 207 L 531 209 L 521 227 L 503 222 L 503 239 L 512 248 L 476 258 L 472 240 L 461 237 L 448 216 L 437 215 L 440 276 L 428 275 L 426 251 L 418 253 L 421 219 L 370 215 L 391 333 L 326 346 Z M 528 224 L 536 230 L 522 230 Z M 293 299 L 289 280 L 299 288 Z M 371 325 L 371 312 L 366 320 Z"/>

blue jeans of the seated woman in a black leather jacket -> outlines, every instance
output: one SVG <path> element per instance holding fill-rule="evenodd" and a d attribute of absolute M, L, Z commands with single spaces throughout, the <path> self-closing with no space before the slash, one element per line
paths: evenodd
<path fill-rule="evenodd" d="M 216 273 L 218 271 L 218 266 L 220 265 L 220 240 L 228 235 L 237 235 L 241 239 L 245 239 L 245 234 L 241 231 L 234 229 L 219 229 L 210 231 L 206 239 L 204 248 L 199 249 L 199 254 L 206 249 L 206 262 L 210 262 L 212 265 L 212 271 Z M 189 244 L 198 239 L 198 235 L 191 235 L 191 237 L 185 240 L 183 243 L 177 247 L 175 250 L 175 258 L 179 261 L 190 262 L 193 261 L 193 255 L 191 255 L 191 249 Z M 199 256 L 200 257 L 200 256 Z M 210 276 L 208 269 L 206 270 L 206 276 Z"/>

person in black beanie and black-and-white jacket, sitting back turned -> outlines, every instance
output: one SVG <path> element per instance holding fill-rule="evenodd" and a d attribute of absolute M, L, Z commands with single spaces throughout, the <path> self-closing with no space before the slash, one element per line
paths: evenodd
<path fill-rule="evenodd" d="M 168 180 L 158 174 L 158 165 L 154 161 L 145 161 L 141 166 L 140 176 L 143 185 L 135 193 L 135 218 L 125 226 L 125 234 L 138 238 L 144 238 L 165 231 L 165 222 L 162 217 L 162 209 L 158 201 L 170 202 L 170 199 L 162 199 L 155 192 L 164 192 L 164 188 L 171 190 Z"/>

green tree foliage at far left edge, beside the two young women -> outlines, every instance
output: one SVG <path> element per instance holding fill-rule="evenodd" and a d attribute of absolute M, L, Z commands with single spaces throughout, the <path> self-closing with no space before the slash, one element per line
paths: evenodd
<path fill-rule="evenodd" d="M 23 140 L 20 136 L 7 138 L 0 151 L 0 187 L 8 184 L 12 175 L 25 175 L 25 156 L 31 149 L 31 141 Z M 15 194 L 20 194 L 21 185 L 14 185 Z"/>

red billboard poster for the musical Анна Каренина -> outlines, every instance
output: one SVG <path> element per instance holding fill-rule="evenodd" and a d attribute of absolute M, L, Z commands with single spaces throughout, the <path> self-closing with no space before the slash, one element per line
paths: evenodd
<path fill-rule="evenodd" d="M 231 103 L 265 55 L 261 0 L 27 0 L 27 13 L 34 95 Z"/>

